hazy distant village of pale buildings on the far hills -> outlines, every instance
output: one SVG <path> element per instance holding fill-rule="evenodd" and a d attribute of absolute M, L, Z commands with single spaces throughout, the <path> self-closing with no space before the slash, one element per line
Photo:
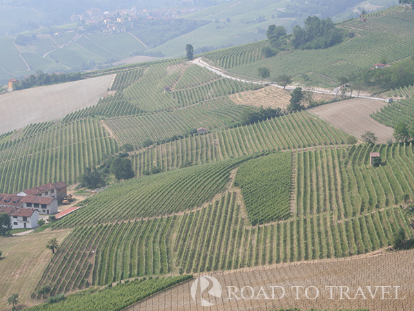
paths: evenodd
<path fill-rule="evenodd" d="M 183 2 L 181 4 L 186 4 Z M 188 5 L 192 4 L 188 1 Z M 155 10 L 137 10 L 134 6 L 130 9 L 116 10 L 115 12 L 102 11 L 98 8 L 90 8 L 83 15 L 72 15 L 72 21 L 85 21 L 86 25 L 99 26 L 101 32 L 125 32 L 129 26 L 137 26 L 138 19 L 177 19 L 182 15 L 195 12 L 197 8 L 164 8 Z M 134 23 L 136 21 L 136 23 Z"/>

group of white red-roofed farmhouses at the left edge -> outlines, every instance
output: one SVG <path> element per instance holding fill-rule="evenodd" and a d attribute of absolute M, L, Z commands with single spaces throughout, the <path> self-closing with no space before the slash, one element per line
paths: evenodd
<path fill-rule="evenodd" d="M 57 204 L 66 197 L 65 182 L 48 183 L 18 194 L 0 194 L 0 213 L 10 216 L 12 228 L 37 227 L 39 214 L 57 213 Z"/>

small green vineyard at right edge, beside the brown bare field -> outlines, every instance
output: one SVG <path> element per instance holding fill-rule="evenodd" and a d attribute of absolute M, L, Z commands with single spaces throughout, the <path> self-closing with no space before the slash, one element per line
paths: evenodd
<path fill-rule="evenodd" d="M 414 124 L 414 100 L 400 100 L 384 106 L 380 111 L 371 115 L 375 120 L 387 126 L 394 127 L 399 122 Z"/>

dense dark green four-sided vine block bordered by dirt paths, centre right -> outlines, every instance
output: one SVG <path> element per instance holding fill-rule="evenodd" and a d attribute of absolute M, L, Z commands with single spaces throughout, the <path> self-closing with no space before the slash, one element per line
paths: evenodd
<path fill-rule="evenodd" d="M 244 163 L 235 178 L 252 225 L 290 216 L 292 153 L 275 153 Z"/>

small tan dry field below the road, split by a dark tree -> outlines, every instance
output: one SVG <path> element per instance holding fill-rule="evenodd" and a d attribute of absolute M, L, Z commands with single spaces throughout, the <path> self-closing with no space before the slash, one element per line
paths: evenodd
<path fill-rule="evenodd" d="M 335 95 L 311 93 L 313 100 L 320 102 L 322 100 L 332 100 Z M 289 104 L 290 91 L 284 90 L 283 88 L 277 88 L 275 86 L 266 86 L 255 91 L 245 91 L 230 95 L 230 99 L 235 104 L 255 106 L 263 108 L 280 108 L 285 110 Z"/>

